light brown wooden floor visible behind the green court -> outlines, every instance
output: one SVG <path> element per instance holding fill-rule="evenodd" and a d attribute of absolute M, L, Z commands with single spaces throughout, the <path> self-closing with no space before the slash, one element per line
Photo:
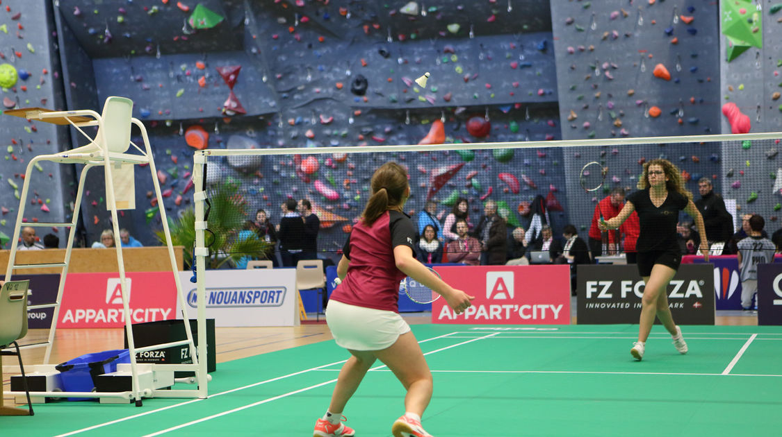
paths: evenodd
<path fill-rule="evenodd" d="M 757 325 L 756 314 L 743 314 L 741 311 L 718 311 L 726 315 L 716 316 L 716 325 Z M 314 314 L 313 317 L 314 319 Z M 430 314 L 405 314 L 407 323 L 430 323 Z M 572 317 L 572 324 L 576 318 Z M 686 331 L 685 331 L 686 332 Z M 27 337 L 20 344 L 44 342 L 48 338 L 48 329 L 30 329 Z M 217 363 L 267 354 L 275 350 L 288 349 L 310 343 L 318 343 L 332 339 L 328 326 L 320 324 L 303 324 L 296 327 L 268 328 L 217 328 L 215 340 Z M 90 354 L 101 350 L 122 349 L 124 343 L 123 329 L 58 329 L 52 347 L 52 357 L 49 364 L 59 364 L 74 357 Z M 22 351 L 23 363 L 44 364 L 45 348 L 31 348 Z M 17 375 L 19 367 L 16 357 L 5 357 L 3 361 L 3 384 L 8 389 L 10 375 Z M 4 396 L 7 403 L 13 403 L 12 396 Z"/>

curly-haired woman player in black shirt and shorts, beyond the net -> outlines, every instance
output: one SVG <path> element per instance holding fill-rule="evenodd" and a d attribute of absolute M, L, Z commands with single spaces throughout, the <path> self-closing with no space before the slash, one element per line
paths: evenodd
<path fill-rule="evenodd" d="M 633 343 L 630 354 L 640 361 L 644 357 L 646 340 L 655 322 L 655 314 L 673 337 L 673 345 L 680 354 L 687 354 L 679 326 L 673 322 L 668 307 L 666 290 L 668 283 L 681 264 L 681 250 L 676 243 L 676 222 L 679 211 L 684 210 L 694 220 L 701 233 L 701 252 L 708 262 L 708 242 L 704 232 L 703 217 L 692 201 L 692 194 L 684 188 L 681 172 L 665 159 L 655 159 L 644 164 L 644 172 L 638 180 L 638 189 L 627 197 L 622 211 L 613 219 L 601 222 L 601 229 L 616 229 L 633 211 L 640 219 L 640 236 L 637 241 L 638 273 L 644 279 L 644 297 L 641 300 L 638 341 Z"/>

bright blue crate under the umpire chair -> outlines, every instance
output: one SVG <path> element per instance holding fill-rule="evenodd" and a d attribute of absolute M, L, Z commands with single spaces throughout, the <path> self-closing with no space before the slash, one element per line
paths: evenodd
<path fill-rule="evenodd" d="M 104 373 L 117 371 L 118 363 L 130 363 L 127 349 L 104 350 L 95 354 L 84 354 L 73 360 L 57 364 L 55 368 L 63 382 L 63 391 L 91 392 L 95 389 L 94 378 Z M 70 397 L 68 400 L 90 400 L 91 398 Z"/>

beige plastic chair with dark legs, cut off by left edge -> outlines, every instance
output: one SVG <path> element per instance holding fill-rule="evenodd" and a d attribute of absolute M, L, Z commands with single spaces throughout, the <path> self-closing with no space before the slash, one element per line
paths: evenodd
<path fill-rule="evenodd" d="M 19 351 L 17 339 L 27 336 L 27 288 L 30 281 L 9 281 L 0 289 L 0 375 L 2 375 L 2 357 L 4 355 L 16 355 L 19 359 L 19 368 L 22 371 L 22 383 L 27 394 L 27 406 L 29 412 L 20 408 L 3 407 L 2 393 L 0 393 L 0 416 L 33 415 L 33 403 L 30 401 L 30 389 L 27 387 L 27 375 L 24 374 L 22 354 Z M 15 346 L 13 350 L 3 350 L 9 346 Z M 2 389 L 0 389 L 2 392 Z"/>

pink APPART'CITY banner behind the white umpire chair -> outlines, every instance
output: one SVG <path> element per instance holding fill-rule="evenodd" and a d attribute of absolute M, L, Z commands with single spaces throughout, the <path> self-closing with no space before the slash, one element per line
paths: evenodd
<path fill-rule="evenodd" d="M 177 289 L 171 272 L 125 275 L 131 322 L 176 318 Z M 59 308 L 58 328 L 117 328 L 125 325 L 120 275 L 69 273 Z"/>

